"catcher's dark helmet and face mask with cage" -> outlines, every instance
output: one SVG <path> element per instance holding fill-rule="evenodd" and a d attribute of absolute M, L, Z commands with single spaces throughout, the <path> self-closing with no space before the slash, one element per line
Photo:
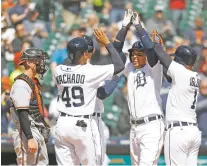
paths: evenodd
<path fill-rule="evenodd" d="M 32 61 L 36 64 L 36 72 L 40 75 L 42 79 L 45 72 L 48 70 L 46 66 L 46 60 L 49 59 L 48 54 L 38 48 L 28 48 L 23 51 L 20 57 L 19 65 L 22 65 L 25 61 Z"/>

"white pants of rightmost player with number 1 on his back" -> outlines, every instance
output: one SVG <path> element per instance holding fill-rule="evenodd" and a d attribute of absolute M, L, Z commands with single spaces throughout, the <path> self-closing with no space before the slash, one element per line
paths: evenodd
<path fill-rule="evenodd" d="M 201 131 L 197 126 L 177 126 L 166 131 L 164 142 L 167 165 L 197 165 Z"/>

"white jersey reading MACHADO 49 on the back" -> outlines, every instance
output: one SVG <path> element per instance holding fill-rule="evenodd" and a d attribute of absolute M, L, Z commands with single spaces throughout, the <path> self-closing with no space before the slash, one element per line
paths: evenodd
<path fill-rule="evenodd" d="M 113 64 L 57 66 L 55 80 L 59 92 L 58 111 L 70 115 L 93 114 L 100 82 L 111 79 L 113 73 Z"/>

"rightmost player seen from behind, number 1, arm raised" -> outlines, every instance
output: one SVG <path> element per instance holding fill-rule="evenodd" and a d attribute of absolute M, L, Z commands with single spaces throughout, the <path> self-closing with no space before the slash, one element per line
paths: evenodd
<path fill-rule="evenodd" d="M 197 72 L 192 71 L 196 52 L 189 46 L 181 45 L 175 51 L 174 60 L 171 60 L 159 44 L 152 43 L 140 24 L 137 29 L 145 47 L 156 52 L 172 80 L 166 106 L 166 164 L 197 165 L 201 131 L 197 127 L 195 112 L 200 78 Z"/>

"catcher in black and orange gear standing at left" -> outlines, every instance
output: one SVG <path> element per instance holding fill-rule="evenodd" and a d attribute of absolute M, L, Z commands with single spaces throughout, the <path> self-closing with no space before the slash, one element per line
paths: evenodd
<path fill-rule="evenodd" d="M 45 123 L 41 86 L 35 77 L 41 78 L 47 71 L 48 55 L 41 49 L 28 48 L 21 56 L 20 64 L 25 72 L 15 78 L 10 97 L 11 116 L 15 124 L 12 133 L 18 165 L 48 165 L 46 142 L 49 128 Z"/>

